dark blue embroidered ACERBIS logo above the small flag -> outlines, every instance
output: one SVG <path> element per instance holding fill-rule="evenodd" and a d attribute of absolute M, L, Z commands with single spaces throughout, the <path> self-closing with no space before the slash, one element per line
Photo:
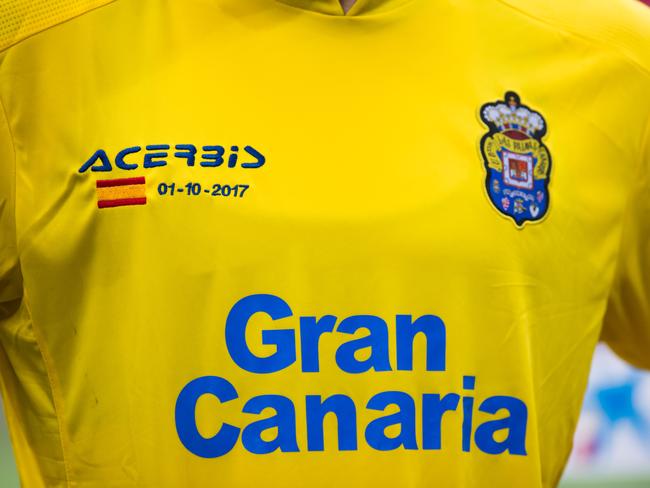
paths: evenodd
<path fill-rule="evenodd" d="M 127 147 L 119 151 L 113 162 L 119 169 L 134 170 L 142 165 L 143 168 L 156 168 L 159 166 L 166 166 L 169 157 L 168 151 L 171 146 L 169 144 L 153 144 L 145 146 L 145 151 L 142 151 L 141 146 Z M 174 146 L 173 157 L 182 159 L 187 163 L 187 166 L 194 166 L 198 161 L 199 166 L 205 168 L 216 168 L 226 162 L 226 149 L 223 146 L 202 146 L 202 152 L 199 154 L 196 146 L 192 144 L 176 144 Z M 234 168 L 239 164 L 242 168 L 259 168 L 266 162 L 266 158 L 262 153 L 253 148 L 252 146 L 244 146 L 244 152 L 247 156 L 252 157 L 252 161 L 239 162 L 239 146 L 231 146 L 230 153 L 227 156 L 226 166 Z M 138 153 L 143 152 L 142 155 L 136 156 Z M 111 158 L 108 157 L 104 149 L 98 149 L 93 153 L 88 160 L 81 165 L 79 173 L 84 173 L 88 169 L 91 171 L 112 171 L 113 165 Z"/>

